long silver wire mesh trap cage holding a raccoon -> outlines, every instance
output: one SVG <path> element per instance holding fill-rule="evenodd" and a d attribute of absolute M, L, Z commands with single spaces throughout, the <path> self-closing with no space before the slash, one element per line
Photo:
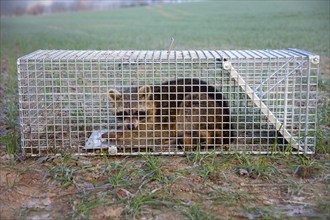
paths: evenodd
<path fill-rule="evenodd" d="M 26 155 L 315 152 L 309 52 L 38 50 L 17 69 Z"/>

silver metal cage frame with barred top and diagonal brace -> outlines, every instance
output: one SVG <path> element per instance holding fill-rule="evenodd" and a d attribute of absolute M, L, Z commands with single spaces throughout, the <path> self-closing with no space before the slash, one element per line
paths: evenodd
<path fill-rule="evenodd" d="M 60 56 L 61 53 L 66 53 L 66 56 Z M 81 54 L 84 56 L 82 57 Z M 143 55 L 141 57 L 141 55 Z M 41 56 L 41 58 L 39 57 Z M 50 57 L 50 58 L 49 58 Z M 72 58 L 76 57 L 76 58 Z M 133 57 L 133 59 L 132 59 Z M 188 57 L 188 58 L 187 58 Z M 237 65 L 235 64 L 240 64 L 241 60 L 244 59 L 252 59 L 252 62 L 255 62 L 256 59 L 284 59 L 287 60 L 287 62 L 291 62 L 291 59 L 303 59 L 306 61 L 308 65 L 308 71 L 307 71 L 307 80 L 310 80 L 311 74 L 310 71 L 310 66 L 314 65 L 314 81 L 316 82 L 313 83 L 313 85 L 316 87 L 316 91 L 313 91 L 313 102 L 317 102 L 315 100 L 315 96 L 317 96 L 317 75 L 319 72 L 319 56 L 315 55 L 313 53 L 299 50 L 299 49 L 293 49 L 289 48 L 287 50 L 195 50 L 195 51 L 65 51 L 65 50 L 38 50 L 35 51 L 31 54 L 25 55 L 23 57 L 20 57 L 17 60 L 17 77 L 18 77 L 18 90 L 19 90 L 19 115 L 20 115 L 20 128 L 21 128 L 21 145 L 23 146 L 23 153 L 28 154 L 30 156 L 38 156 L 40 155 L 40 151 L 37 154 L 29 154 L 26 153 L 26 147 L 25 147 L 25 142 L 24 140 L 24 135 L 26 132 L 26 124 L 23 121 L 24 118 L 24 107 L 23 107 L 23 96 L 26 95 L 24 92 L 22 92 L 22 63 L 28 60 L 34 60 L 36 62 L 45 62 L 45 60 L 50 59 L 52 63 L 53 60 L 59 61 L 59 62 L 80 62 L 82 60 L 82 65 L 84 65 L 84 61 L 87 63 L 92 63 L 94 61 L 100 62 L 113 62 L 113 63 L 121 63 L 121 64 L 128 64 L 131 65 L 132 63 L 138 63 L 139 60 L 143 63 L 150 63 L 153 65 L 155 62 L 164 62 L 164 63 L 170 63 L 170 62 L 183 62 L 185 63 L 186 60 L 189 60 L 193 62 L 194 60 L 197 60 L 198 62 L 206 62 L 208 63 L 210 60 L 211 62 L 220 62 L 222 65 L 223 71 L 227 71 L 230 79 L 235 81 L 237 83 L 236 86 L 238 86 L 242 91 L 244 91 L 247 95 L 247 97 L 250 99 L 250 101 L 260 109 L 262 114 L 268 118 L 269 122 L 274 125 L 276 128 L 276 131 L 278 131 L 285 140 L 292 146 L 292 148 L 298 150 L 297 152 L 291 152 L 293 154 L 313 154 L 315 152 L 315 147 L 314 149 L 309 149 L 308 144 L 307 144 L 307 138 L 305 138 L 304 142 L 297 141 L 293 135 L 288 131 L 283 123 L 272 113 L 272 111 L 267 107 L 267 104 L 263 102 L 263 94 L 258 94 L 256 90 L 257 88 L 251 88 L 249 83 L 245 81 L 245 79 L 241 76 L 239 73 L 239 68 L 237 68 Z M 38 61 L 39 60 L 39 61 Z M 33 63 L 33 62 L 32 62 Z M 306 64 L 305 63 L 305 64 Z M 27 64 L 29 65 L 29 64 Z M 301 64 L 302 65 L 302 64 Z M 45 67 L 42 67 L 45 68 Z M 53 68 L 53 67 L 51 67 Z M 24 69 L 24 68 L 23 68 Z M 36 69 L 36 68 L 35 68 Z M 24 71 L 24 70 L 23 70 Z M 273 73 L 275 74 L 275 73 Z M 291 73 L 288 73 L 291 74 Z M 60 76 L 60 75 L 59 75 Z M 53 76 L 52 76 L 53 77 Z M 60 76 L 61 77 L 61 76 Z M 271 76 L 270 76 L 271 78 Z M 267 81 L 268 79 L 266 79 Z M 263 82 L 264 83 L 264 82 Z M 279 82 L 280 83 L 280 82 Z M 307 82 L 307 85 L 309 86 L 310 82 Z M 316 85 L 315 85 L 316 84 Z M 276 86 L 276 85 L 274 85 Z M 60 86 L 60 89 L 62 87 Z M 306 102 L 309 103 L 309 90 L 307 89 L 307 100 Z M 261 97 L 260 97 L 261 96 Z M 85 101 L 85 100 L 84 100 Z M 70 102 L 70 101 L 69 101 Z M 309 106 L 308 104 L 306 105 L 306 124 L 305 126 L 308 126 L 308 109 Z M 37 110 L 38 111 L 38 110 Z M 62 111 L 62 110 L 61 110 Z M 314 114 L 316 114 L 316 107 L 314 109 Z M 108 113 L 109 114 L 109 113 Z M 37 119 L 38 120 L 38 119 Z M 316 123 L 314 127 L 316 126 Z M 316 129 L 316 128 L 315 128 Z M 307 134 L 307 130 L 305 127 L 305 133 Z M 86 131 L 85 131 L 86 132 Z M 63 133 L 63 128 L 62 128 L 62 133 Z M 93 134 L 93 133 L 92 133 Z M 91 136 L 92 136 L 91 134 Z M 63 135 L 62 135 L 63 136 Z M 315 139 L 315 136 L 312 137 Z M 89 141 L 86 140 L 85 144 Z M 315 143 L 315 140 L 314 140 Z M 72 146 L 69 148 L 71 149 Z M 100 148 L 102 149 L 102 148 Z M 141 155 L 141 154 L 162 154 L 162 155 L 180 155 L 180 154 L 186 154 L 187 152 L 129 152 L 129 153 L 120 153 L 117 152 L 116 146 L 108 146 L 107 148 L 108 154 L 109 155 Z M 79 155 L 96 155 L 99 154 L 99 152 L 92 152 L 92 153 L 81 153 L 81 152 L 74 152 L 75 154 Z M 210 153 L 209 151 L 200 151 L 200 153 Z M 234 150 L 234 151 L 214 151 L 213 153 L 216 154 L 232 154 L 232 153 L 251 153 L 251 154 L 270 154 L 270 153 L 279 153 L 278 151 L 271 152 L 269 150 L 267 151 L 239 151 L 239 150 Z M 102 150 L 101 150 L 102 154 Z"/>

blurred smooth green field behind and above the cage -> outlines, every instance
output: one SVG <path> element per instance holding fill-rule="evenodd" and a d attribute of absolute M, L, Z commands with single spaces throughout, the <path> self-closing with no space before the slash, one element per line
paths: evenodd
<path fill-rule="evenodd" d="M 328 1 L 214 1 L 1 18 L 1 52 L 279 49 L 329 54 Z M 19 55 L 20 55 L 19 54 Z"/>

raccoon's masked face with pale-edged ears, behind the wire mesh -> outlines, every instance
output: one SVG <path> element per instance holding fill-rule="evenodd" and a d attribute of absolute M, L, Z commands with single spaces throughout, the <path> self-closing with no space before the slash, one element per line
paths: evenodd
<path fill-rule="evenodd" d="M 146 124 L 154 115 L 155 106 L 150 86 L 131 89 L 123 93 L 111 89 L 109 98 L 113 106 L 112 111 L 119 124 L 117 129 L 138 130 L 141 124 Z"/>

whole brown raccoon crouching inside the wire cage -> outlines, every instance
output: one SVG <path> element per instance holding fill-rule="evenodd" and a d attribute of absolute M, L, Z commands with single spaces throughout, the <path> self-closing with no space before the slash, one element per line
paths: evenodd
<path fill-rule="evenodd" d="M 220 146 L 231 142 L 227 101 L 199 79 L 176 79 L 161 85 L 109 90 L 120 125 L 102 135 L 120 144 Z"/>

